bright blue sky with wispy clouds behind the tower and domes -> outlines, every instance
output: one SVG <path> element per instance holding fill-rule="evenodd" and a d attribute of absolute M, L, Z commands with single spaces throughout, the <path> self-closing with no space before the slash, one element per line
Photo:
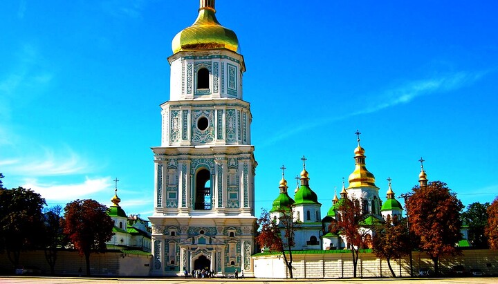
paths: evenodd
<path fill-rule="evenodd" d="M 150 216 L 171 41 L 199 1 L 12 1 L 0 9 L 0 172 L 48 205 Z M 256 215 L 306 155 L 322 213 L 354 169 L 356 129 L 385 200 L 425 159 L 464 205 L 498 196 L 496 1 L 216 1 L 246 60 Z M 293 196 L 291 194 L 291 196 Z"/>

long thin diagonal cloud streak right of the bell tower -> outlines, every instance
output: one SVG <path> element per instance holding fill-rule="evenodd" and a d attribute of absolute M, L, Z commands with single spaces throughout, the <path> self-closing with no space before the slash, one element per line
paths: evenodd
<path fill-rule="evenodd" d="M 295 126 L 292 129 L 284 129 L 283 131 L 280 131 L 273 137 L 266 139 L 264 142 L 261 142 L 259 147 L 261 148 L 276 144 L 279 141 L 298 135 L 299 133 L 302 133 L 307 129 L 313 129 L 318 126 L 330 124 L 331 122 L 345 120 L 356 115 L 375 113 L 377 111 L 382 111 L 385 108 L 391 108 L 399 104 L 407 104 L 415 100 L 417 97 L 421 97 L 423 95 L 433 95 L 436 93 L 446 93 L 448 91 L 457 90 L 458 88 L 462 88 L 463 86 L 473 84 L 488 73 L 488 71 L 476 73 L 457 72 L 438 75 L 429 79 L 408 81 L 401 86 L 396 86 L 394 88 L 389 88 L 387 90 L 370 94 L 368 101 L 371 103 L 365 108 L 360 108 L 356 112 L 344 115 L 336 115 L 335 117 L 329 117 L 327 119 L 306 121 L 306 124 Z"/>

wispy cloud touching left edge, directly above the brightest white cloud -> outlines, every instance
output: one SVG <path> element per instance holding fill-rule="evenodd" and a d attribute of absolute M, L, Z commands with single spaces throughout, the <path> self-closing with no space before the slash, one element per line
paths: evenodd
<path fill-rule="evenodd" d="M 10 173 L 30 176 L 65 176 L 74 173 L 89 173 L 89 163 L 72 149 L 55 153 L 50 149 L 44 151 L 40 158 L 0 160 L 1 165 L 9 165 Z"/>

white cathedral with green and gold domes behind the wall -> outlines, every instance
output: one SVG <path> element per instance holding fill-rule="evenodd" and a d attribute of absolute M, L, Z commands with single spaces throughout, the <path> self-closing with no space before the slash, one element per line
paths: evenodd
<path fill-rule="evenodd" d="M 391 178 L 388 178 L 387 200 L 382 204 L 379 195 L 379 188 L 376 186 L 376 180 L 373 173 L 367 170 L 365 159 L 365 149 L 360 146 L 360 132 L 358 136 L 358 146 L 354 149 L 355 168 L 349 175 L 349 187 L 345 187 L 342 181 L 342 191 L 340 198 L 334 193 L 332 207 L 327 211 L 324 218 L 320 218 L 321 204 L 318 202 L 317 194 L 309 186 L 309 173 L 306 171 L 306 158 L 303 160 L 303 171 L 300 174 L 300 186 L 295 191 L 294 198 L 288 195 L 287 181 L 284 178 L 284 169 L 282 167 L 282 180 L 279 184 L 279 196 L 273 201 L 273 207 L 270 210 L 270 216 L 276 222 L 286 215 L 292 215 L 294 220 L 294 245 L 295 250 L 315 250 L 315 249 L 345 249 L 349 245 L 347 240 L 340 234 L 333 234 L 329 231 L 329 225 L 340 218 L 340 205 L 346 198 L 359 200 L 362 214 L 365 218 L 361 221 L 365 225 L 374 225 L 385 222 L 393 216 L 401 217 L 403 207 L 394 197 L 394 191 L 391 189 Z M 425 172 L 421 171 L 419 180 L 427 183 Z M 291 210 L 292 208 L 292 210 Z M 282 229 L 284 234 L 284 229 Z M 367 238 L 372 238 L 373 231 L 367 234 Z M 368 241 L 368 240 L 367 240 Z"/>

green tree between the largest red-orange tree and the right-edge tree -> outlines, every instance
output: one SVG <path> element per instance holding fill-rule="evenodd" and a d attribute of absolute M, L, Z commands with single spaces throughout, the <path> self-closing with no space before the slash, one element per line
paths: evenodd
<path fill-rule="evenodd" d="M 488 239 L 484 234 L 484 228 L 488 224 L 489 202 L 474 202 L 468 205 L 467 210 L 462 213 L 462 220 L 468 225 L 468 240 L 473 247 L 485 249 L 488 247 Z"/>

